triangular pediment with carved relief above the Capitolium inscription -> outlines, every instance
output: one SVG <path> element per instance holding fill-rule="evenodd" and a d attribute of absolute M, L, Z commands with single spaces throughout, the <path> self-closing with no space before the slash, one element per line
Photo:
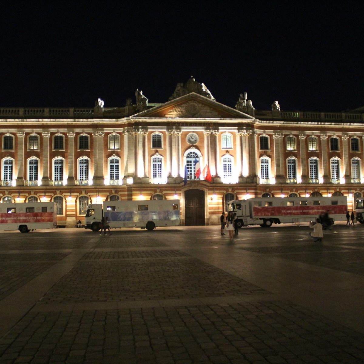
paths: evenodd
<path fill-rule="evenodd" d="M 253 116 L 223 105 L 194 92 L 177 99 L 155 106 L 132 115 L 134 118 L 209 118 L 209 119 L 245 119 L 254 120 Z"/>

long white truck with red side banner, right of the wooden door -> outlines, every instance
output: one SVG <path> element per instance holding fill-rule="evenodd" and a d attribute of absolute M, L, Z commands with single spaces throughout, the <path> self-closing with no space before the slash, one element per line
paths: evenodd
<path fill-rule="evenodd" d="M 256 197 L 234 200 L 228 211 L 237 215 L 238 227 L 260 225 L 269 227 L 273 223 L 308 225 L 321 215 L 329 214 L 333 221 L 346 221 L 347 198 L 334 197 Z"/>

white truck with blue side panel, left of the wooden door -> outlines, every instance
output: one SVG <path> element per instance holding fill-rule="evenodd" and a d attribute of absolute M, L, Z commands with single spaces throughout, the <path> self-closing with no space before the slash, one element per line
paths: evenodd
<path fill-rule="evenodd" d="M 98 231 L 102 217 L 110 228 L 141 227 L 153 230 L 157 226 L 181 224 L 179 200 L 105 201 L 87 206 L 85 229 Z"/>

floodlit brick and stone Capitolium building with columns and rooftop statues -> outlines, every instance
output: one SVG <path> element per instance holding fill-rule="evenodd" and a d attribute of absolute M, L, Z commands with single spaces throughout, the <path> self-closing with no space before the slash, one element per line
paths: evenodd
<path fill-rule="evenodd" d="M 262 195 L 344 195 L 351 210 L 364 193 L 363 110 L 270 109 L 246 93 L 218 103 L 193 78 L 160 104 L 137 90 L 124 107 L 0 108 L 0 202 L 54 201 L 66 226 L 106 200 L 178 198 L 185 225 Z"/>

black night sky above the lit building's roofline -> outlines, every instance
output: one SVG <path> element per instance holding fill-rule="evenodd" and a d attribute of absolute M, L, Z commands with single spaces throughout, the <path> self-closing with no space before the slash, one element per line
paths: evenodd
<path fill-rule="evenodd" d="M 247 91 L 257 109 L 352 110 L 363 13 L 359 1 L 8 1 L 0 107 L 117 107 L 136 88 L 166 102 L 193 75 L 232 107 Z"/>

